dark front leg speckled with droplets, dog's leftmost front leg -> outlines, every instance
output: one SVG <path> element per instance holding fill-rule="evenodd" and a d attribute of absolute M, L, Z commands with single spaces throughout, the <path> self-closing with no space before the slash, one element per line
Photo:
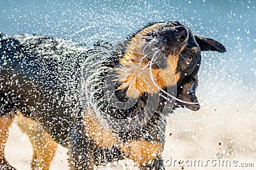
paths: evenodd
<path fill-rule="evenodd" d="M 85 135 L 83 118 L 74 118 L 74 124 L 71 125 L 68 138 L 70 169 L 93 169 L 94 144 L 92 140 Z"/>

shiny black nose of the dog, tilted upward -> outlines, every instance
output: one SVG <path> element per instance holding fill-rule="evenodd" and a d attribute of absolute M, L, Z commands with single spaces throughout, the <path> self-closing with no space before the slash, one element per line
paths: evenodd
<path fill-rule="evenodd" d="M 183 26 L 177 26 L 173 27 L 173 29 L 170 29 L 169 31 L 165 32 L 168 39 L 175 38 L 178 41 L 184 42 L 188 38 L 188 31 Z"/>

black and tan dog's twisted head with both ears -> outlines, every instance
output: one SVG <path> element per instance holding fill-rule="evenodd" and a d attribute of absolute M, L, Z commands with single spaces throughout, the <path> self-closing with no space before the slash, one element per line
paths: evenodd
<path fill-rule="evenodd" d="M 151 52 L 145 53 L 148 48 Z M 148 24 L 131 37 L 120 59 L 119 89 L 136 98 L 177 86 L 176 106 L 198 110 L 195 89 L 201 52 L 206 50 L 226 51 L 218 41 L 197 36 L 179 22 Z"/>

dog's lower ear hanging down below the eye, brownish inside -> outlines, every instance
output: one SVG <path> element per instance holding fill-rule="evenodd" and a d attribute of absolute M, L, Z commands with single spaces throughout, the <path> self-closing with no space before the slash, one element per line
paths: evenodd
<path fill-rule="evenodd" d="M 190 110 L 195 110 L 195 111 L 199 110 L 200 105 L 197 101 L 195 88 L 196 88 L 195 78 L 187 76 L 186 78 L 184 78 L 184 80 L 182 80 L 182 83 L 178 88 L 177 98 L 182 101 L 186 101 L 188 103 L 193 103 L 193 104 L 188 104 L 188 103 L 179 102 L 179 104 L 182 107 L 189 108 Z"/>

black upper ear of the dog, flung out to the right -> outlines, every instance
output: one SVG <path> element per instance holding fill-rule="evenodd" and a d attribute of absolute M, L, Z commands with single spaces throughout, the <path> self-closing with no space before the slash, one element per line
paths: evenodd
<path fill-rule="evenodd" d="M 196 43 L 200 46 L 201 51 L 217 51 L 217 52 L 226 52 L 225 46 L 221 45 L 220 42 L 215 41 L 211 38 L 202 38 L 200 36 L 194 35 Z"/>

